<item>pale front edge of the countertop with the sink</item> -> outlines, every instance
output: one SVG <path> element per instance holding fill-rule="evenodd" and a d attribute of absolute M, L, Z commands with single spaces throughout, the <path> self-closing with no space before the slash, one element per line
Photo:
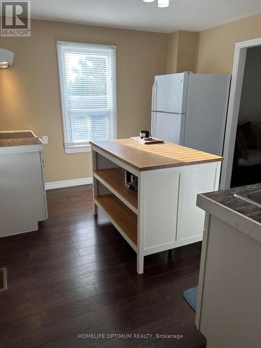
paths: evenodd
<path fill-rule="evenodd" d="M 205 210 L 205 212 L 216 216 L 219 220 L 261 243 L 261 223 L 258 221 L 204 196 L 203 193 L 198 195 L 196 205 L 200 209 Z"/>

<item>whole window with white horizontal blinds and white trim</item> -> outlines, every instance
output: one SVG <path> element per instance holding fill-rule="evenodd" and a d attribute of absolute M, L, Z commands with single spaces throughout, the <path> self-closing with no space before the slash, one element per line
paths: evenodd
<path fill-rule="evenodd" d="M 65 152 L 116 139 L 116 46 L 57 42 Z"/>

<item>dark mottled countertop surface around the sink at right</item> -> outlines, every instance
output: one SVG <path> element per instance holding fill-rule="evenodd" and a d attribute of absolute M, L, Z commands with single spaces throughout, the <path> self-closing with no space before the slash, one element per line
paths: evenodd
<path fill-rule="evenodd" d="M 241 198 L 237 198 L 234 196 L 234 194 L 238 193 L 239 191 L 244 191 L 245 189 L 250 189 L 253 187 L 255 187 L 256 189 L 261 189 L 261 183 L 242 187 L 235 187 L 232 189 L 226 189 L 222 191 L 203 193 L 200 196 L 209 198 L 214 202 L 223 205 L 223 207 L 232 209 L 235 212 L 246 216 L 248 219 L 261 223 L 261 207 L 248 203 L 245 200 L 242 200 Z"/>

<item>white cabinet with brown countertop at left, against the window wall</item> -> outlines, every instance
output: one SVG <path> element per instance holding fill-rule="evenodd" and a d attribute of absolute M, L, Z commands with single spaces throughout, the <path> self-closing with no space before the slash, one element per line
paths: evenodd
<path fill-rule="evenodd" d="M 31 131 L 0 132 L 0 237 L 47 219 L 43 145 Z"/>

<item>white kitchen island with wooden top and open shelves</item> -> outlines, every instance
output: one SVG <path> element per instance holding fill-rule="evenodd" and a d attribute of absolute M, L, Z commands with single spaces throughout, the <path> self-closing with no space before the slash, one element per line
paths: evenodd
<path fill-rule="evenodd" d="M 94 214 L 100 207 L 136 251 L 139 274 L 145 255 L 202 240 L 205 214 L 196 197 L 219 188 L 222 157 L 130 139 L 90 145 Z M 125 171 L 138 177 L 137 192 L 125 187 Z"/>

